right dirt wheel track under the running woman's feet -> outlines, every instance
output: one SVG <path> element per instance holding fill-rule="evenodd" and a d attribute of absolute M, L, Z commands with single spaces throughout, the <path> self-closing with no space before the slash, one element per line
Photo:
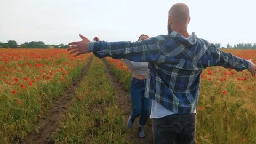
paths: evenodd
<path fill-rule="evenodd" d="M 126 121 L 128 120 L 128 117 L 131 113 L 130 93 L 128 93 L 127 91 L 125 91 L 123 89 L 122 84 L 120 84 L 118 82 L 118 80 L 116 79 L 115 75 L 112 74 L 112 72 L 110 71 L 110 69 L 107 65 L 107 61 L 105 61 L 105 60 L 102 60 L 102 61 L 104 63 L 106 72 L 108 74 L 109 82 L 115 89 L 115 95 L 117 96 L 117 104 L 118 104 L 118 107 L 120 107 L 123 110 L 123 115 L 125 116 L 125 125 L 127 125 Z M 151 123 L 149 123 L 149 121 L 148 121 L 146 123 L 146 125 L 144 126 L 144 131 L 145 131 L 144 138 L 139 138 L 139 136 L 137 134 L 137 131 L 138 131 L 137 123 L 138 123 L 138 118 L 136 118 L 133 128 L 131 128 L 131 129 L 127 128 L 129 141 L 133 144 L 153 144 Z"/>

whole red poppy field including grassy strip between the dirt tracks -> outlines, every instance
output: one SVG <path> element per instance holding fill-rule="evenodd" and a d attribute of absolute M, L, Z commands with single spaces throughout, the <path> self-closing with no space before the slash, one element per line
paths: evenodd
<path fill-rule="evenodd" d="M 256 51 L 223 51 L 256 62 Z M 34 133 L 37 120 L 47 119 L 48 108 L 92 58 L 87 74 L 51 134 L 51 141 L 129 143 L 126 119 L 117 107 L 117 94 L 103 62 L 92 53 L 74 57 L 63 49 L 0 49 L 0 143 L 21 141 Z M 132 75 L 126 65 L 121 60 L 104 60 L 124 91 L 129 91 Z M 247 70 L 203 70 L 196 143 L 256 143 L 256 77 Z"/>

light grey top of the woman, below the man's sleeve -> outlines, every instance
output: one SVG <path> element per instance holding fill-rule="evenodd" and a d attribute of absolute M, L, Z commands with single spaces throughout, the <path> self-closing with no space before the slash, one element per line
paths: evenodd
<path fill-rule="evenodd" d="M 147 75 L 148 63 L 147 62 L 134 62 L 128 59 L 122 59 L 123 63 L 127 64 L 129 70 L 133 74 Z"/>

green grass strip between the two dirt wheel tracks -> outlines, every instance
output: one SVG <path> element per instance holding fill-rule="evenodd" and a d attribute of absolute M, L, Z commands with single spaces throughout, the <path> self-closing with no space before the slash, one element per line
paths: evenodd
<path fill-rule="evenodd" d="M 94 59 L 52 139 L 56 144 L 125 144 L 123 115 L 104 65 Z"/>

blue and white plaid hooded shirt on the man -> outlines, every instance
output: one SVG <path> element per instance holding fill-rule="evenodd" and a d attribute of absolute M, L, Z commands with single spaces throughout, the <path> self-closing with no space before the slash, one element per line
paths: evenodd
<path fill-rule="evenodd" d="M 225 53 L 193 32 L 191 39 L 172 32 L 136 42 L 90 42 L 98 58 L 110 56 L 149 62 L 145 96 L 176 114 L 192 113 L 197 105 L 201 72 L 223 66 L 241 71 L 251 62 Z"/>

